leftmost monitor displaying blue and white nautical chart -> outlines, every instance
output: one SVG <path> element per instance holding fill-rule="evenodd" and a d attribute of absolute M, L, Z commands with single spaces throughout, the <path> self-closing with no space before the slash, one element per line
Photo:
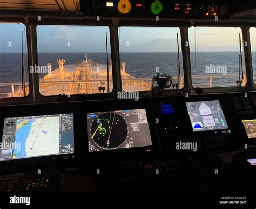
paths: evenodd
<path fill-rule="evenodd" d="M 4 119 L 0 161 L 73 152 L 72 113 Z"/>

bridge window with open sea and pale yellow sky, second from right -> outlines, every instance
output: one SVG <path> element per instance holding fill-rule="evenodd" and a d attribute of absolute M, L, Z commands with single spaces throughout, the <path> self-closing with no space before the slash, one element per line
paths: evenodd
<path fill-rule="evenodd" d="M 191 27 L 189 29 L 194 87 L 246 85 L 241 32 L 237 27 Z"/>

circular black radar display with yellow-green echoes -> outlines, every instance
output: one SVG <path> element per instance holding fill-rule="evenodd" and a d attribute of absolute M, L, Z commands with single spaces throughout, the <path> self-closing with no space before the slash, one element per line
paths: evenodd
<path fill-rule="evenodd" d="M 117 113 L 100 114 L 92 123 L 92 139 L 102 148 L 114 149 L 124 143 L 128 133 L 125 120 Z"/>

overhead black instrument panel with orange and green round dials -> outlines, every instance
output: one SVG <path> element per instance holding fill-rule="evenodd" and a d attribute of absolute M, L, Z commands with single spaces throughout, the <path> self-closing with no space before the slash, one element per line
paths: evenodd
<path fill-rule="evenodd" d="M 160 17 L 160 18 L 230 18 L 233 1 L 169 1 L 169 0 L 86 0 L 80 1 L 85 16 Z"/>

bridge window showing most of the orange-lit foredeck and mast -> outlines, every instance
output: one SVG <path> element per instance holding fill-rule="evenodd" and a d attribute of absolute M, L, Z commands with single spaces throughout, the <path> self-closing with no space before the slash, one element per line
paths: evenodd
<path fill-rule="evenodd" d="M 40 25 L 37 47 L 42 95 L 112 91 L 109 27 Z"/>

